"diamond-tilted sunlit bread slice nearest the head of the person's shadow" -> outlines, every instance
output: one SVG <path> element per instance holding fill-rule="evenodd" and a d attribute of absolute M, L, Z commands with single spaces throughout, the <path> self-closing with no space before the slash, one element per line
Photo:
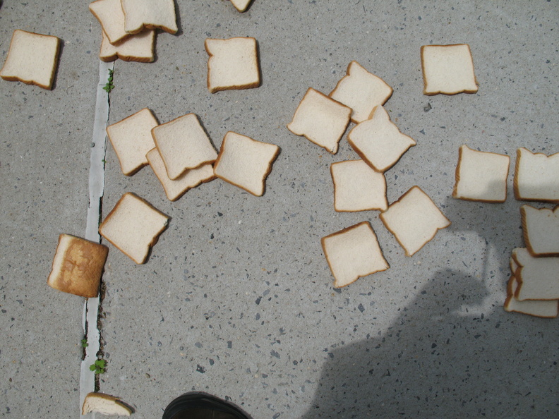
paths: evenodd
<path fill-rule="evenodd" d="M 450 226 L 450 220 L 419 186 L 413 186 L 393 202 L 385 212 L 380 213 L 380 219 L 394 234 L 407 256 L 423 248 L 437 231 Z"/>

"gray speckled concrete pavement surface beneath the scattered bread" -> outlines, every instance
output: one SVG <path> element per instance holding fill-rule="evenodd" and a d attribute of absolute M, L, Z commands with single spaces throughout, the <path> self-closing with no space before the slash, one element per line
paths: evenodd
<path fill-rule="evenodd" d="M 79 4 L 78 4 L 79 3 Z M 100 26 L 87 2 L 4 1 L 0 54 L 24 29 L 64 42 L 54 90 L 0 80 L 0 413 L 75 418 L 83 300 L 45 281 L 59 233 L 83 236 Z M 110 247 L 101 391 L 136 418 L 208 391 L 254 418 L 559 415 L 558 322 L 504 312 L 520 203 L 450 198 L 459 145 L 559 152 L 556 1 L 176 1 L 155 63 L 116 61 L 109 123 L 149 107 L 194 112 L 219 147 L 233 130 L 281 147 L 265 195 L 216 180 L 169 202 L 149 167 L 127 178 L 107 145 L 103 213 L 134 192 L 171 217 L 145 265 Z M 206 37 L 256 37 L 263 84 L 206 87 Z M 419 48 L 468 43 L 479 92 L 426 97 Z M 308 87 L 351 60 L 394 88 L 386 108 L 416 142 L 390 171 L 452 221 L 406 257 L 378 212 L 336 213 L 331 155 L 285 128 Z M 426 111 L 430 104 L 431 109 Z M 512 185 L 512 169 L 509 177 Z M 549 206 L 549 205 L 548 205 Z M 320 238 L 371 221 L 390 269 L 332 288 Z"/>

